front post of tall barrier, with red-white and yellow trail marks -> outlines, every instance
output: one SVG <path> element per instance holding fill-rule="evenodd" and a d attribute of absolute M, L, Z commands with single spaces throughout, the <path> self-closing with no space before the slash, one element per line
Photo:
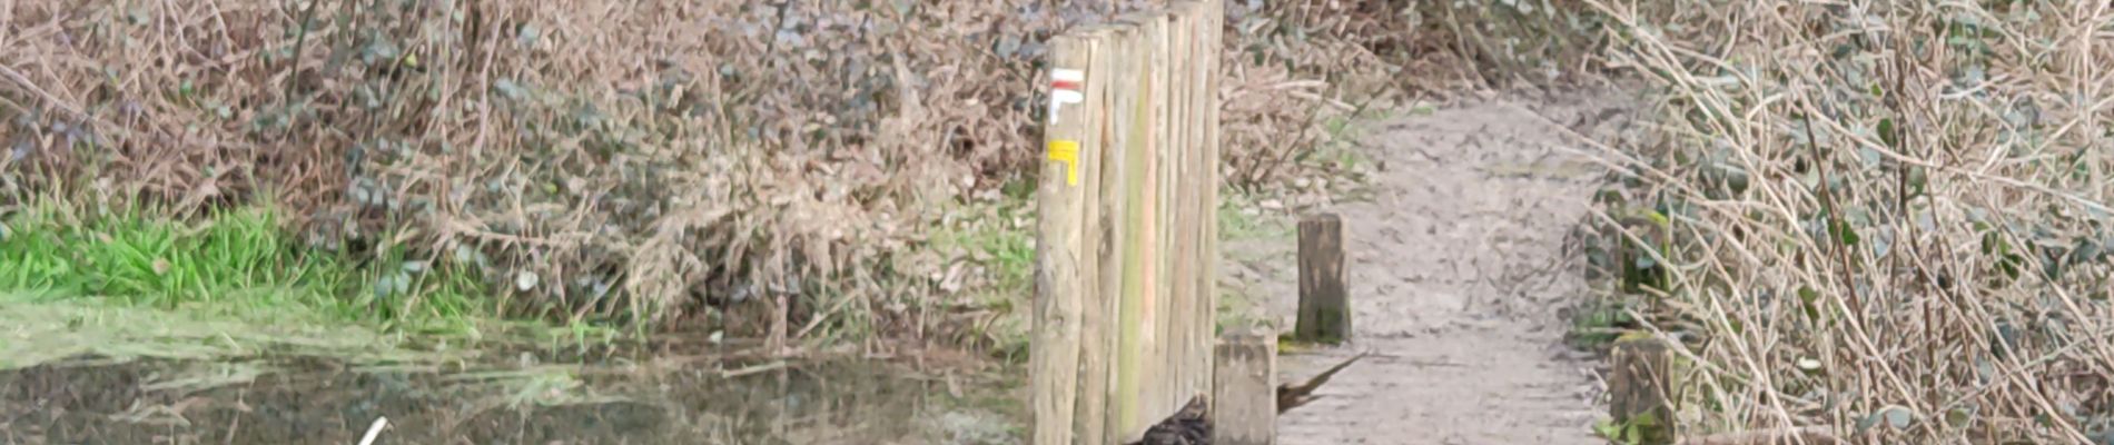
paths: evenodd
<path fill-rule="evenodd" d="M 1078 396 L 1080 314 L 1091 289 L 1087 259 L 1087 221 L 1093 207 L 1089 188 L 1099 177 L 1097 143 L 1091 135 L 1091 110 L 1084 103 L 1082 67 L 1093 61 L 1097 42 L 1078 36 L 1051 40 L 1051 116 L 1046 127 L 1046 165 L 1036 190 L 1036 299 L 1034 344 L 1030 344 L 1030 407 L 1034 409 L 1034 443 L 1072 443 L 1074 403 Z"/>

